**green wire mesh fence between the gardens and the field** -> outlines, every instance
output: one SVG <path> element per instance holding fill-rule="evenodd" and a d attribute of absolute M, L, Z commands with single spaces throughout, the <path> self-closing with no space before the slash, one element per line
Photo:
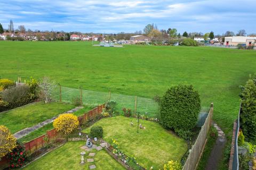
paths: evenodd
<path fill-rule="evenodd" d="M 82 92 L 82 95 L 81 95 Z M 61 94 L 61 95 L 60 95 Z M 75 89 L 68 87 L 58 87 L 53 91 L 53 98 L 64 102 L 72 102 L 74 99 L 80 99 L 82 96 L 82 103 L 84 105 L 98 106 L 109 99 L 117 102 L 117 111 L 121 112 L 122 108 L 130 108 L 134 111 L 135 96 L 114 94 L 109 92 L 99 92 L 85 89 Z M 137 97 L 137 112 L 145 114 L 148 117 L 156 117 L 158 112 L 158 104 L 149 98 Z"/>

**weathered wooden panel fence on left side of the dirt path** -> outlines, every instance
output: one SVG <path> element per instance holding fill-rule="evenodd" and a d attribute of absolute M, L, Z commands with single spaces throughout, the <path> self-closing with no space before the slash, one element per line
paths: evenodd
<path fill-rule="evenodd" d="M 211 108 L 206 117 L 204 125 L 202 126 L 201 131 L 199 132 L 197 139 L 191 148 L 191 151 L 188 155 L 188 158 L 182 170 L 196 169 L 197 163 L 199 162 L 199 159 L 200 159 L 201 152 L 203 151 L 203 147 L 205 145 L 207 134 L 211 127 L 212 115 L 213 115 L 213 103 L 211 104 Z"/>

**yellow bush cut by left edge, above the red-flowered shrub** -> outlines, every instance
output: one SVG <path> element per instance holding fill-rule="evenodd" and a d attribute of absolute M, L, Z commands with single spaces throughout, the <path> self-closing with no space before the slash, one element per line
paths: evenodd
<path fill-rule="evenodd" d="M 16 138 L 8 128 L 0 125 L 0 158 L 11 152 L 16 146 Z"/>

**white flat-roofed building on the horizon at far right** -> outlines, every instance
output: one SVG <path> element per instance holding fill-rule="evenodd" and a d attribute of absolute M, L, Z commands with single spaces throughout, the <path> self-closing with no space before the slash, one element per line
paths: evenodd
<path fill-rule="evenodd" d="M 225 37 L 224 45 L 227 46 L 237 46 L 238 44 L 243 44 L 246 46 L 254 45 L 256 37 L 246 37 L 246 36 L 234 36 L 234 37 Z"/>

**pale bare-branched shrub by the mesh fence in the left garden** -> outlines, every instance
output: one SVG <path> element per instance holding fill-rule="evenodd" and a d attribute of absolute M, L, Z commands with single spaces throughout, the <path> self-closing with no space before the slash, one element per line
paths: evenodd
<path fill-rule="evenodd" d="M 38 84 L 40 88 L 39 98 L 45 101 L 45 103 L 50 103 L 52 101 L 52 91 L 56 87 L 54 81 L 52 81 L 49 77 L 43 77 Z"/>

